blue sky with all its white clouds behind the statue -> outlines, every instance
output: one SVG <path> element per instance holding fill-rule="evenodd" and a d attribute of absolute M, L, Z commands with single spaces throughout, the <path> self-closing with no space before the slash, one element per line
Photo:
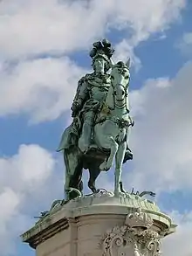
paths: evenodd
<path fill-rule="evenodd" d="M 77 82 L 91 70 L 88 52 L 102 38 L 114 61 L 132 60 L 134 160 L 123 166 L 124 186 L 154 190 L 178 225 L 163 255 L 192 255 L 191 17 L 190 0 L 0 2 L 0 256 L 35 256 L 19 236 L 64 197 L 56 149 Z M 97 184 L 113 190 L 113 170 Z"/>

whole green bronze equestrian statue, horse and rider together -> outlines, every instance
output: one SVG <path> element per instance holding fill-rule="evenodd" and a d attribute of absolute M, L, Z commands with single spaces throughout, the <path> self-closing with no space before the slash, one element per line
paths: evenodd
<path fill-rule="evenodd" d="M 82 193 L 83 169 L 90 172 L 89 188 L 98 192 L 95 180 L 100 171 L 110 170 L 113 162 L 114 194 L 120 195 L 122 164 L 133 159 L 128 148 L 130 128 L 134 125 L 128 99 L 130 59 L 113 64 L 113 52 L 106 39 L 94 43 L 90 52 L 93 73 L 78 83 L 71 107 L 73 121 L 65 128 L 58 147 L 64 154 L 66 200 Z"/>

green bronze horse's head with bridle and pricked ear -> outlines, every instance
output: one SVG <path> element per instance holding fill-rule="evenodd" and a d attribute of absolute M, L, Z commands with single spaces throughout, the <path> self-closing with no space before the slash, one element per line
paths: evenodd
<path fill-rule="evenodd" d="M 112 67 L 113 95 L 115 105 L 119 107 L 123 107 L 127 103 L 127 88 L 130 80 L 129 63 L 130 60 L 126 64 L 119 61 Z"/>

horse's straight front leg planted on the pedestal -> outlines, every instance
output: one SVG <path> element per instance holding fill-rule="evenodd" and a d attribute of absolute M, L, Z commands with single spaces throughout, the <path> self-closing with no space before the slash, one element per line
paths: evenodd
<path fill-rule="evenodd" d="M 122 175 L 123 159 L 126 154 L 127 142 L 121 142 L 115 156 L 115 172 L 114 172 L 114 195 L 119 196 L 120 191 L 120 179 Z"/>

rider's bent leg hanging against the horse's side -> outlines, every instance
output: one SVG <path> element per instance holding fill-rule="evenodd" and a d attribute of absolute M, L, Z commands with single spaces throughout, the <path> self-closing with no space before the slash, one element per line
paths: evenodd
<path fill-rule="evenodd" d="M 84 124 L 82 128 L 82 134 L 79 138 L 79 149 L 82 152 L 86 152 L 91 143 L 92 131 L 93 131 L 94 113 L 89 111 L 85 114 Z"/>

